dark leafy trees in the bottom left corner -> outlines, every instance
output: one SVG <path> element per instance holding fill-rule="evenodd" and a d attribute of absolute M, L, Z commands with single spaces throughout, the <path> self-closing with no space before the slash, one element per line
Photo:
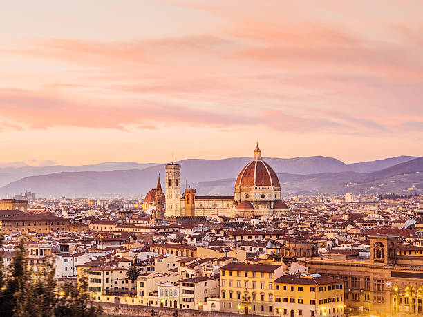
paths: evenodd
<path fill-rule="evenodd" d="M 1 242 L 0 242 L 1 244 Z M 0 245 L 1 247 L 1 245 Z M 1 316 L 16 317 L 88 317 L 97 316 L 101 308 L 93 306 L 86 276 L 57 287 L 53 261 L 34 272 L 25 260 L 23 243 L 7 269 L 0 256 Z"/>

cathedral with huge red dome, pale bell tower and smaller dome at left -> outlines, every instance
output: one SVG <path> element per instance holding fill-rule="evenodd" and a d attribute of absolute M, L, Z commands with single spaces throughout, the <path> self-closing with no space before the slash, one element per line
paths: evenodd
<path fill-rule="evenodd" d="M 158 206 L 156 217 L 162 216 L 163 205 L 166 217 L 259 218 L 274 216 L 279 218 L 290 213 L 288 206 L 281 200 L 281 184 L 278 175 L 261 157 L 259 143 L 254 150 L 252 160 L 236 177 L 234 195 L 231 196 L 197 196 L 196 189 L 191 188 L 185 189 L 181 194 L 180 165 L 172 162 L 167 164 L 165 169 L 165 195 L 162 193 L 159 178 L 157 188 L 151 189 L 144 199 L 144 210 L 151 206 Z"/>

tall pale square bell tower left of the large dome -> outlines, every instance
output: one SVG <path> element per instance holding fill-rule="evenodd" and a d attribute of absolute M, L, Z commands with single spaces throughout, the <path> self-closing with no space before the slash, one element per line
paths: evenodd
<path fill-rule="evenodd" d="M 180 214 L 180 165 L 172 162 L 166 169 L 166 216 Z"/>

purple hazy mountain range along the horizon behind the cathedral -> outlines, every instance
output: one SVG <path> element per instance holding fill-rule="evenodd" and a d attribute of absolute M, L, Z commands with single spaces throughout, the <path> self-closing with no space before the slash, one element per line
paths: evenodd
<path fill-rule="evenodd" d="M 236 175 L 250 160 L 251 157 L 234 157 L 223 160 L 182 160 L 178 162 L 182 166 L 182 188 L 184 184 L 194 186 L 199 195 L 232 194 Z M 330 193 L 367 191 L 367 187 L 376 187 L 369 189 L 375 192 L 379 189 L 400 191 L 411 184 L 420 186 L 423 183 L 422 174 L 416 173 L 423 171 L 422 157 L 415 159 L 415 157 L 401 156 L 355 164 L 344 164 L 337 159 L 321 156 L 292 159 L 265 158 L 265 160 L 276 173 L 279 173 L 282 192 L 285 195 L 321 191 Z M 398 162 L 400 164 L 397 164 Z M 26 171 L 23 169 L 28 169 L 28 167 L 0 169 L 1 182 L 4 182 L 7 177 L 12 177 L 11 174 L 16 177 L 19 173 L 20 175 L 32 173 L 29 177 L 23 177 L 1 187 L 1 196 L 11 197 L 25 189 L 35 192 L 39 197 L 50 195 L 54 197 L 62 195 L 71 197 L 144 196 L 156 185 L 158 174 L 164 175 L 164 164 L 133 162 L 46 166 Z M 113 169 L 113 171 L 107 171 L 107 169 Z M 49 171 L 59 172 L 49 173 Z M 363 171 L 368 173 L 363 173 Z M 7 173 L 9 174 L 6 177 L 3 176 Z M 34 175 L 34 173 L 46 175 Z M 378 182 L 382 186 L 379 187 Z M 164 186 L 163 180 L 162 185 Z"/>

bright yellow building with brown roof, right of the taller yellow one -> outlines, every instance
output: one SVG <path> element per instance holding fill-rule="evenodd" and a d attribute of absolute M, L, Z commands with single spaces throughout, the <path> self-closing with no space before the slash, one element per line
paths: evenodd
<path fill-rule="evenodd" d="M 274 309 L 284 317 L 344 316 L 344 280 L 319 274 L 283 275 L 274 281 Z"/>

